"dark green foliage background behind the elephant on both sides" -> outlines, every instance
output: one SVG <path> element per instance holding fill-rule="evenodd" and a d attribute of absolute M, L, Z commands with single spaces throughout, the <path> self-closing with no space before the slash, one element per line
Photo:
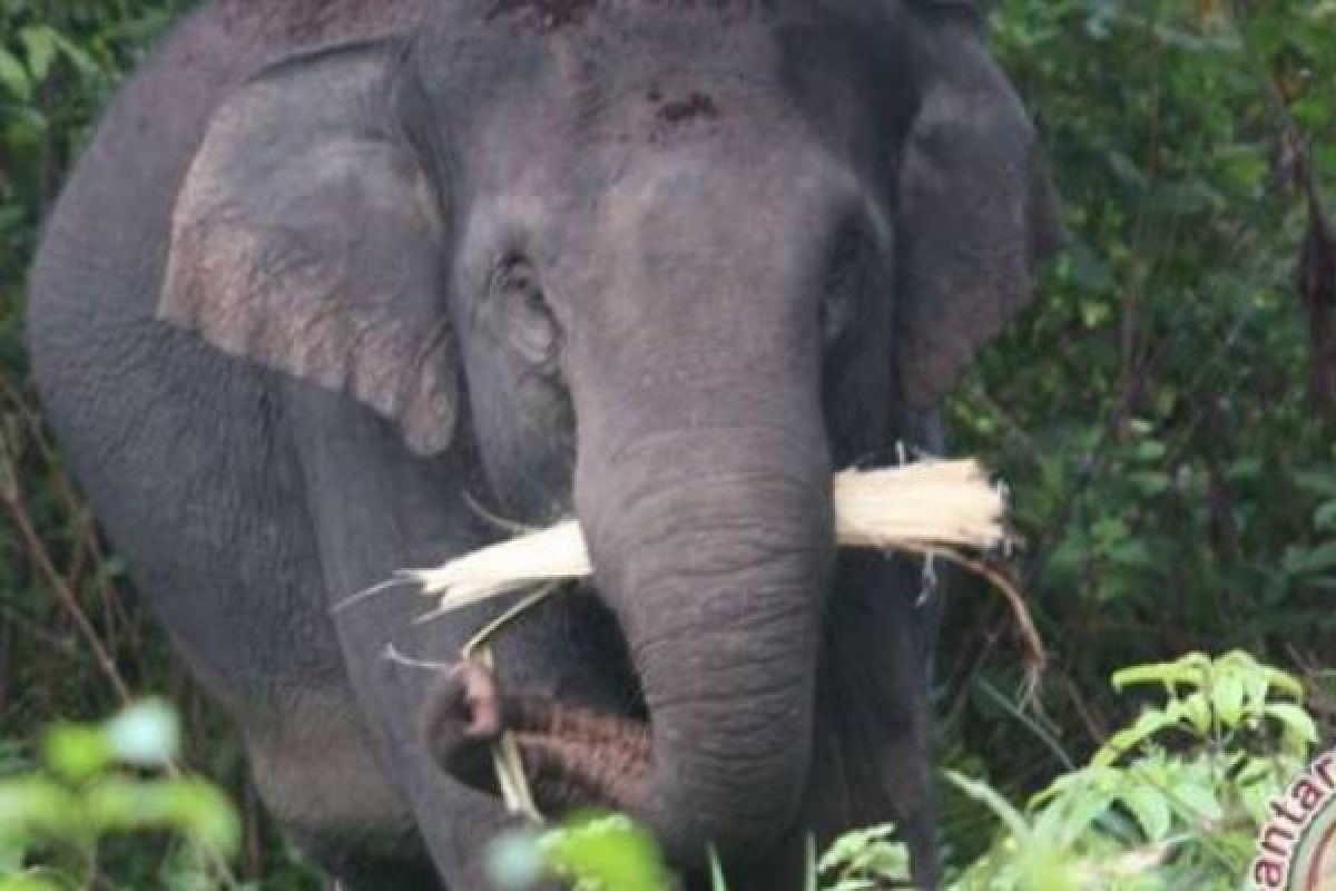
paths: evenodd
<path fill-rule="evenodd" d="M 116 81 L 184 5 L 0 0 L 0 768 L 31 763 L 53 716 L 163 693 L 187 761 L 242 804 L 240 878 L 318 887 L 102 550 L 23 358 L 43 212 Z M 1336 214 L 1336 3 L 1002 0 L 993 33 L 1069 238 L 950 413 L 954 450 L 1011 485 L 1051 667 L 1022 709 L 1006 610 L 965 585 L 939 660 L 943 759 L 1019 797 L 1126 723 L 1113 669 L 1234 647 L 1301 673 L 1329 739 L 1336 399 L 1313 345 L 1336 311 L 1316 262 L 1325 251 L 1336 270 L 1316 211 Z M 955 856 L 987 846 L 989 820 L 947 799 Z M 164 882 L 170 851 L 123 851 L 130 887 Z"/>

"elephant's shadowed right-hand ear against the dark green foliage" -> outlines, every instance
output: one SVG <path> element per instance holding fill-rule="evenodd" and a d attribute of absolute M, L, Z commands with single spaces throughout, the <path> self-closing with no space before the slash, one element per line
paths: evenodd
<path fill-rule="evenodd" d="M 937 402 L 1029 299 L 1058 243 L 1034 127 L 969 4 L 914 15 L 918 108 L 899 168 L 896 357 L 906 401 Z M 957 8 L 951 8 L 957 7 Z"/>

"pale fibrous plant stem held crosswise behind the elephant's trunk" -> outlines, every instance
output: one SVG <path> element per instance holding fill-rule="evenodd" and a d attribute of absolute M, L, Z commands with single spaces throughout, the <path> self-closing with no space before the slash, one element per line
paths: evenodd
<path fill-rule="evenodd" d="M 1009 541 L 1006 497 L 971 460 L 846 470 L 834 477 L 834 501 L 835 538 L 843 548 L 989 552 Z M 568 520 L 437 569 L 401 570 L 397 580 L 415 582 L 452 610 L 592 573 L 580 525 Z"/>

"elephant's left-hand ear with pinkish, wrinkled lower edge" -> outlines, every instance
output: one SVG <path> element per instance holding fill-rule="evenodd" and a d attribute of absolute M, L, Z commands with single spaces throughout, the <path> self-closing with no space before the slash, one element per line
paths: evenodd
<path fill-rule="evenodd" d="M 457 414 L 436 196 L 395 126 L 399 55 L 322 49 L 214 115 L 176 199 L 159 318 L 346 393 L 413 452 Z"/>

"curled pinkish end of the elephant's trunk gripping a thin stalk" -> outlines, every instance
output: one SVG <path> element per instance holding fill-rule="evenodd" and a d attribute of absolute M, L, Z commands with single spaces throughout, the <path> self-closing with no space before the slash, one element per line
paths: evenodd
<path fill-rule="evenodd" d="M 453 776 L 497 792 L 492 745 L 510 733 L 534 803 L 545 814 L 582 806 L 635 812 L 651 767 L 648 725 L 550 699 L 506 695 L 466 660 L 437 681 L 422 712 L 433 757 Z"/>

